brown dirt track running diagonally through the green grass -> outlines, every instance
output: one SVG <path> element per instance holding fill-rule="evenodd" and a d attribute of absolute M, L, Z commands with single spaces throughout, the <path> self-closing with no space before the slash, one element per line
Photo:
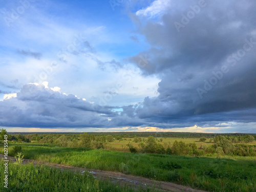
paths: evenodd
<path fill-rule="evenodd" d="M 0 159 L 4 158 L 4 155 L 0 154 Z M 15 158 L 8 157 L 10 161 L 15 161 Z M 170 182 L 164 182 L 164 181 L 155 181 L 151 179 L 146 179 L 139 176 L 132 176 L 132 175 L 125 175 L 119 172 L 109 172 L 105 170 L 96 170 L 96 169 L 87 169 L 87 168 L 80 168 L 80 167 L 74 167 L 69 165 L 60 165 L 60 164 L 54 164 L 54 163 L 47 163 L 47 162 L 41 162 L 41 161 L 35 161 L 35 160 L 29 160 L 25 159 L 23 161 L 23 164 L 27 163 L 33 163 L 34 165 L 49 165 L 51 167 L 56 167 L 61 170 L 70 170 L 72 172 L 80 172 L 81 174 L 84 174 L 86 172 L 89 172 L 93 174 L 93 176 L 97 179 L 103 179 L 103 180 L 112 180 L 115 183 L 119 184 L 129 184 L 133 187 L 143 186 L 143 187 L 155 187 L 157 189 L 160 189 L 162 191 L 170 191 L 170 192 L 206 192 L 203 190 L 193 189 L 187 186 L 178 185 L 175 183 Z"/>

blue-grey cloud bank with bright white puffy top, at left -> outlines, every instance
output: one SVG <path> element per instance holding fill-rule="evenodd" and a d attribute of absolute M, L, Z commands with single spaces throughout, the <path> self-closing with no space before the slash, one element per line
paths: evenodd
<path fill-rule="evenodd" d="M 116 106 L 100 106 L 45 87 L 26 84 L 17 97 L 0 101 L 0 126 L 115 127 L 140 125 L 139 119 L 120 116 Z"/>

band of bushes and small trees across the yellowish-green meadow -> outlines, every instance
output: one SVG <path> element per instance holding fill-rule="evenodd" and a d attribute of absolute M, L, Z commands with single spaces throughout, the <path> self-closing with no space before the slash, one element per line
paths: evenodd
<path fill-rule="evenodd" d="M 2 130 L 2 135 L 7 134 Z M 114 140 L 123 140 L 123 135 L 113 134 L 15 134 L 9 135 L 8 140 L 18 142 L 31 142 L 48 143 L 52 145 L 65 146 L 65 147 L 83 147 L 83 148 L 105 148 L 106 143 L 110 143 Z M 131 140 L 131 139 L 130 139 Z M 205 142 L 206 137 L 201 137 L 199 141 Z M 256 156 L 256 145 L 248 145 L 242 143 L 248 143 L 254 141 L 253 135 L 217 135 L 209 138 L 209 143 L 214 143 L 209 146 L 201 145 L 197 147 L 195 143 L 185 144 L 183 141 L 175 141 L 174 143 L 161 144 L 154 136 L 148 136 L 147 138 L 133 137 L 134 142 L 139 142 L 138 147 L 133 146 L 132 143 L 127 144 L 130 152 L 132 153 L 155 153 L 155 154 L 173 154 L 173 155 L 237 155 L 237 156 Z M 163 141 L 162 138 L 159 141 Z"/>

